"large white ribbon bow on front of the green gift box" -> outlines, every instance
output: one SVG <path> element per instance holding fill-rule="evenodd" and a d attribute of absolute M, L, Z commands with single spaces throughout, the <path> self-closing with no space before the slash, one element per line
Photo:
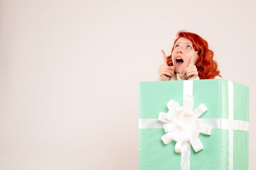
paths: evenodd
<path fill-rule="evenodd" d="M 161 139 L 164 144 L 168 144 L 173 140 L 176 141 L 175 152 L 182 153 L 191 143 L 195 152 L 203 149 L 203 145 L 199 139 L 199 134 L 204 133 L 211 135 L 211 127 L 207 124 L 202 124 L 198 119 L 207 107 L 201 103 L 194 111 L 194 98 L 190 95 L 185 95 L 183 106 L 180 106 L 175 100 L 170 100 L 167 103 L 168 113 L 159 112 L 158 120 L 166 122 L 164 124 L 164 134 Z"/>

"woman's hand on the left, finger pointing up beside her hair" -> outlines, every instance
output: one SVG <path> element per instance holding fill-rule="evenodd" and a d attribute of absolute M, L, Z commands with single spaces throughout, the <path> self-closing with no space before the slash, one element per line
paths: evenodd
<path fill-rule="evenodd" d="M 168 66 L 166 61 L 166 54 L 164 50 L 161 50 L 163 55 L 163 63 L 160 65 L 158 72 L 159 72 L 159 80 L 160 81 L 168 81 L 171 80 L 171 77 L 174 74 L 174 66 Z"/>

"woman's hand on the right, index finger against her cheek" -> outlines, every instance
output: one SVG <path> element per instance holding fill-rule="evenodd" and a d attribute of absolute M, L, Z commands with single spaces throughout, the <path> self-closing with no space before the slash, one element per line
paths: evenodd
<path fill-rule="evenodd" d="M 198 69 L 194 65 L 195 56 L 196 56 L 197 53 L 198 53 L 198 51 L 195 52 L 195 54 L 191 57 L 189 66 L 180 71 L 180 73 L 181 73 L 180 77 L 181 78 L 186 78 L 188 80 L 199 79 L 198 78 Z"/>

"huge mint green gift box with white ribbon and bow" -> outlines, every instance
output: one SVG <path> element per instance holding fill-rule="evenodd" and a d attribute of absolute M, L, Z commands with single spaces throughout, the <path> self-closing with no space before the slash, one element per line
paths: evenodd
<path fill-rule="evenodd" d="M 140 82 L 139 170 L 248 170 L 248 138 L 249 87 L 223 79 Z"/>

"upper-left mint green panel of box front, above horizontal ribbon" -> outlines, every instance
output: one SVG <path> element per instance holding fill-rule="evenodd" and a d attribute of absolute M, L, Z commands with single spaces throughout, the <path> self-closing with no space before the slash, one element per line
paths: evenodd
<path fill-rule="evenodd" d="M 156 119 L 160 111 L 167 113 L 171 99 L 182 105 L 183 81 L 140 82 L 139 119 Z"/>

